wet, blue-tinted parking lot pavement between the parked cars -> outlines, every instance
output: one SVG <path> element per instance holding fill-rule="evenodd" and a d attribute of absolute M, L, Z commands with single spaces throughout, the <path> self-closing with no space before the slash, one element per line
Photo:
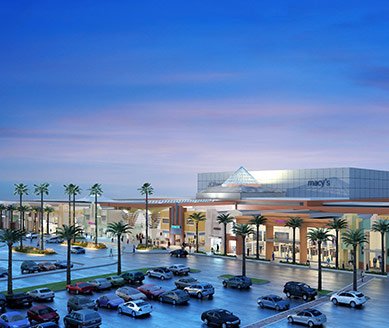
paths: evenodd
<path fill-rule="evenodd" d="M 61 248 L 62 246 L 54 246 Z M 63 249 L 60 249 L 62 254 Z M 62 256 L 62 255 L 59 255 Z M 96 265 L 99 263 L 108 264 L 116 260 L 115 257 L 107 256 L 107 251 L 89 251 L 86 255 L 73 255 L 73 261 L 80 263 L 80 267 L 88 265 Z M 3 262 L 5 263 L 5 262 Z M 275 293 L 284 296 L 282 293 L 283 285 L 286 281 L 298 280 L 304 281 L 313 287 L 316 287 L 317 272 L 304 268 L 295 268 L 290 266 L 273 265 L 269 263 L 247 263 L 247 275 L 267 279 L 270 282 L 263 285 L 253 285 L 250 290 L 236 290 L 224 288 L 221 284 L 222 279 L 218 278 L 221 274 L 239 274 L 239 261 L 233 259 L 221 259 L 205 256 L 189 256 L 188 259 L 171 258 L 168 254 L 132 254 L 125 253 L 123 257 L 123 269 L 132 270 L 136 268 L 154 267 L 160 265 L 171 265 L 174 263 L 183 263 L 191 268 L 201 270 L 198 273 L 191 275 L 200 281 L 211 283 L 215 287 L 215 295 L 211 300 L 198 300 L 191 298 L 188 305 L 170 305 L 162 304 L 158 301 L 151 301 L 154 310 L 151 316 L 146 318 L 131 318 L 121 316 L 114 310 L 99 309 L 102 316 L 102 327 L 119 327 L 120 325 L 128 325 L 131 327 L 202 327 L 200 315 L 203 311 L 211 308 L 225 308 L 232 311 L 240 317 L 242 326 L 254 323 L 276 314 L 275 311 L 269 309 L 259 309 L 256 304 L 256 299 L 259 296 Z M 19 262 L 20 265 L 20 262 Z M 91 276 L 98 273 L 114 273 L 115 265 L 105 266 L 101 269 L 86 269 L 73 273 L 73 277 Z M 58 272 L 49 275 L 38 275 L 35 277 L 24 275 L 23 279 L 14 281 L 15 287 L 26 285 L 36 285 L 45 281 L 64 280 L 65 274 Z M 145 278 L 144 283 L 154 283 L 164 287 L 165 289 L 174 288 L 174 280 L 160 281 L 155 278 Z M 351 275 L 348 273 L 324 272 L 323 288 L 327 290 L 337 290 L 351 282 Z M 4 290 L 6 281 L 1 281 L 1 289 Z M 327 302 L 319 307 L 319 310 L 327 315 L 328 322 L 326 327 L 347 327 L 350 324 L 363 322 L 363 327 L 373 327 L 384 324 L 386 316 L 386 307 L 388 301 L 386 294 L 389 291 L 387 279 L 374 279 L 372 282 L 362 288 L 366 295 L 371 297 L 371 300 L 362 309 L 351 309 L 344 306 L 335 307 Z M 113 292 L 113 290 L 112 290 Z M 95 293 L 93 298 L 97 298 L 102 293 Z M 56 298 L 51 305 L 56 308 L 62 318 L 66 314 L 66 302 L 70 295 L 67 292 L 57 292 Z M 303 301 L 293 299 L 291 307 L 302 304 Z M 50 304 L 50 303 L 49 303 Z M 290 326 L 286 320 L 282 320 L 273 324 L 271 327 L 288 327 Z"/>

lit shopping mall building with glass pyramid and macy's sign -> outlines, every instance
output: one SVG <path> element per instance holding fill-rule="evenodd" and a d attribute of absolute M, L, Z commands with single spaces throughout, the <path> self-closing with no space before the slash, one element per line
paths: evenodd
<path fill-rule="evenodd" d="M 50 227 L 68 223 L 66 201 L 50 201 L 56 211 Z M 144 232 L 143 199 L 113 200 L 99 198 L 99 235 L 104 235 L 109 222 L 126 221 L 134 227 L 133 235 Z M 87 197 L 77 200 L 76 223 L 94 233 L 94 204 Z M 237 223 L 248 223 L 254 215 L 267 218 L 260 227 L 260 256 L 270 260 L 291 256 L 292 230 L 285 227 L 290 217 L 300 217 L 303 224 L 297 229 L 297 259 L 301 263 L 317 260 L 315 244 L 307 240 L 311 228 L 326 227 L 334 217 L 345 218 L 350 228 L 362 228 L 369 243 L 359 251 L 361 268 L 378 266 L 374 259 L 381 255 L 381 238 L 371 231 L 378 219 L 389 220 L 389 171 L 359 168 L 320 168 L 298 170 L 248 171 L 244 167 L 231 172 L 199 173 L 197 194 L 193 199 L 161 199 L 149 201 L 150 235 L 155 244 L 194 245 L 195 225 L 188 219 L 194 212 L 203 212 L 205 222 L 199 224 L 200 249 L 223 252 L 224 228 L 217 216 L 228 213 Z M 37 228 L 37 214 L 28 216 L 28 229 Z M 250 236 L 244 250 L 255 255 L 255 236 Z M 386 255 L 389 243 L 386 240 Z M 227 228 L 227 251 L 242 254 L 240 239 Z M 324 259 L 333 263 L 334 242 L 323 245 Z M 341 245 L 340 264 L 348 265 L 351 250 Z M 386 258 L 385 263 L 388 263 Z M 389 271 L 389 266 L 387 266 Z"/>

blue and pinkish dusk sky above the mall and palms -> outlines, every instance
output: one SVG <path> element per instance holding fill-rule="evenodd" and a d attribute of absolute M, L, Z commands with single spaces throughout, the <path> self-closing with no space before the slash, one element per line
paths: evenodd
<path fill-rule="evenodd" d="M 0 199 L 389 170 L 388 39 L 387 1 L 0 1 Z"/>

